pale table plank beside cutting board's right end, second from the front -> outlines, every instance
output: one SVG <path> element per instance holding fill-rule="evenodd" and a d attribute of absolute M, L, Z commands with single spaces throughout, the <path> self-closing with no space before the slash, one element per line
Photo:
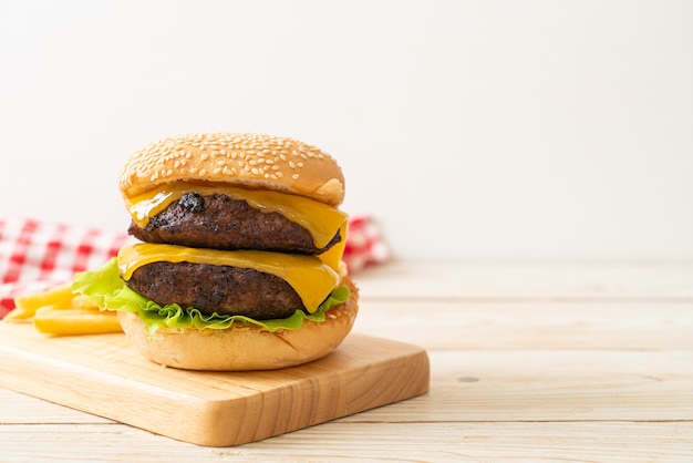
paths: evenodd
<path fill-rule="evenodd" d="M 428 393 L 342 420 L 693 421 L 690 350 L 430 350 L 428 358 Z M 37 405 L 33 398 L 10 394 L 9 399 L 0 408 L 3 424 L 76 420 L 62 408 Z M 38 415 L 24 413 L 39 407 Z"/>

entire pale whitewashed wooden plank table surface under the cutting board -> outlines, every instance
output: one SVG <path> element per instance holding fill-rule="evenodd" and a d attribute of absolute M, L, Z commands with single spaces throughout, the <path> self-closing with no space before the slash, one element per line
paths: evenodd
<path fill-rule="evenodd" d="M 354 332 L 424 347 L 428 393 L 204 447 L 0 389 L 0 461 L 693 461 L 693 264 L 396 263 L 355 278 Z"/>

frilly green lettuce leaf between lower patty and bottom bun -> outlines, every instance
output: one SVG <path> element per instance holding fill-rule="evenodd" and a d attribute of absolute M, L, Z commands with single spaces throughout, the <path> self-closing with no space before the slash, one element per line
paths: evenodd
<path fill-rule="evenodd" d="M 290 317 L 272 320 L 256 320 L 244 316 L 205 315 L 193 307 L 183 308 L 177 303 L 159 306 L 133 291 L 121 278 L 116 258 L 108 260 L 103 267 L 79 272 L 72 284 L 74 292 L 89 296 L 102 310 L 121 310 L 136 312 L 144 320 L 149 333 L 158 328 L 197 328 L 225 329 L 234 322 L 254 323 L 269 331 L 278 329 L 296 330 L 301 328 L 303 320 L 324 321 L 325 312 L 333 306 L 349 300 L 349 288 L 340 286 L 320 305 L 314 313 L 297 310 Z"/>

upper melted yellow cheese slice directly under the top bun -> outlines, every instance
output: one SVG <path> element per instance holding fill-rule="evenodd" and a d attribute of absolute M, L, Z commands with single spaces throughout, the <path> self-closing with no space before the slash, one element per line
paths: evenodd
<path fill-rule="evenodd" d="M 302 196 L 285 193 L 244 189 L 224 185 L 203 186 L 186 183 L 164 185 L 151 192 L 144 193 L 132 199 L 127 199 L 127 209 L 133 220 L 144 228 L 149 219 L 164 210 L 173 202 L 176 202 L 187 193 L 197 193 L 201 196 L 224 194 L 234 199 L 245 199 L 248 204 L 263 212 L 279 213 L 289 220 L 308 229 L 313 237 L 313 244 L 322 248 L 348 220 L 346 214 L 327 204 L 309 199 Z M 345 240 L 342 235 L 342 241 Z"/>

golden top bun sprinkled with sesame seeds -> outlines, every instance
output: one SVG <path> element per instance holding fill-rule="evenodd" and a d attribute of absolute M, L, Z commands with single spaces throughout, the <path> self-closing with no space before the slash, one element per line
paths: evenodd
<path fill-rule="evenodd" d="M 118 173 L 124 198 L 173 182 L 272 189 L 330 206 L 344 199 L 337 162 L 297 140 L 252 133 L 197 133 L 162 138 L 133 153 Z"/>

